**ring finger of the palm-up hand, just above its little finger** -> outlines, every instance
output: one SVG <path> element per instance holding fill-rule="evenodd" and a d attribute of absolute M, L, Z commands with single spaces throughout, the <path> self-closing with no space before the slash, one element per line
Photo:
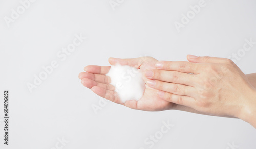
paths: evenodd
<path fill-rule="evenodd" d="M 88 78 L 83 78 L 81 83 L 89 89 L 91 89 L 94 86 L 98 86 L 98 87 L 108 89 L 108 90 L 115 90 L 115 87 L 111 84 L 99 83 L 99 82 L 96 82 L 96 81 L 88 79 Z"/>

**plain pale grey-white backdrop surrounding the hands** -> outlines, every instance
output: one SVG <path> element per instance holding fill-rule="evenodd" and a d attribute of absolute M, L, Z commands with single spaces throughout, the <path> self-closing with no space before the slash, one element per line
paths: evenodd
<path fill-rule="evenodd" d="M 10 91 L 8 146 L 0 98 L 0 148 L 146 149 L 152 145 L 144 141 L 168 120 L 174 126 L 152 148 L 255 148 L 256 130 L 242 120 L 132 110 L 102 102 L 78 78 L 86 65 L 109 65 L 109 57 L 185 61 L 187 54 L 227 58 L 238 52 L 241 70 L 255 73 L 256 44 L 244 53 L 239 49 L 245 39 L 256 41 L 256 2 L 205 0 L 178 32 L 175 22 L 199 2 L 37 0 L 25 8 L 0 0 L 0 91 Z M 87 39 L 65 60 L 58 57 L 76 34 Z M 30 92 L 27 84 L 52 61 L 58 67 Z"/>

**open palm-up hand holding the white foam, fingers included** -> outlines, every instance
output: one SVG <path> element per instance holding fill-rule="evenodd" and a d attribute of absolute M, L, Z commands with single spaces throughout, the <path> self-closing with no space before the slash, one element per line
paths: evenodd
<path fill-rule="evenodd" d="M 158 60 L 152 57 L 134 58 L 134 59 L 110 59 L 110 64 L 120 63 L 121 65 L 130 65 L 137 67 L 139 71 L 144 74 L 146 69 L 154 69 Z M 173 103 L 162 100 L 158 97 L 156 89 L 148 87 L 146 85 L 144 94 L 139 101 L 131 100 L 121 103 L 117 93 L 114 91 L 114 87 L 110 85 L 110 79 L 105 76 L 108 73 L 109 66 L 87 66 L 85 70 L 79 74 L 79 78 L 82 79 L 84 86 L 90 88 L 97 95 L 104 97 L 110 101 L 118 104 L 123 104 L 127 107 L 145 110 L 145 111 L 161 111 L 171 109 Z M 146 83 L 147 78 L 143 75 L 143 80 Z"/>

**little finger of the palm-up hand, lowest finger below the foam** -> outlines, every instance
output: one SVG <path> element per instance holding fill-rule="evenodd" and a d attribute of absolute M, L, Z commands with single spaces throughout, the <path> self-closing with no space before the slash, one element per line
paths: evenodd
<path fill-rule="evenodd" d="M 106 98 L 107 100 L 110 100 L 112 102 L 115 102 L 117 104 L 122 104 L 120 98 L 118 97 L 117 93 L 112 90 L 107 90 L 105 88 L 101 88 L 99 86 L 94 86 L 91 88 L 91 90 L 96 93 L 97 95 Z"/>

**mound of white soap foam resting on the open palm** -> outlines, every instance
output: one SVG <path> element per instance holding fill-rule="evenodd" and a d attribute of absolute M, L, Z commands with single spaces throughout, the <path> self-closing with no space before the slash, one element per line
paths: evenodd
<path fill-rule="evenodd" d="M 111 66 L 106 75 L 111 78 L 110 84 L 115 86 L 115 91 L 123 103 L 129 100 L 138 101 L 143 96 L 145 82 L 137 68 L 116 64 Z"/>

